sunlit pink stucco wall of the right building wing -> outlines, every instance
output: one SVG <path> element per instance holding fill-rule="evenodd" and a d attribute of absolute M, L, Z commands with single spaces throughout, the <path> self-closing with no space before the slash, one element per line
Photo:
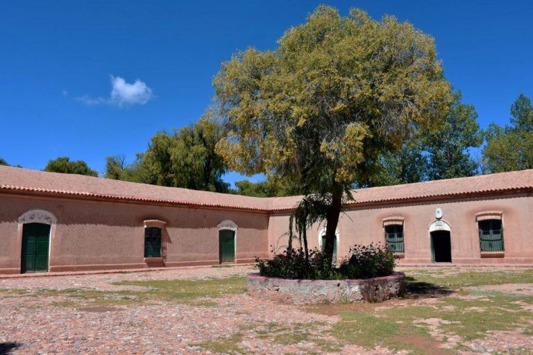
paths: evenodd
<path fill-rule="evenodd" d="M 339 220 L 337 254 L 346 255 L 355 244 L 384 243 L 383 220 L 400 216 L 404 218 L 405 258 L 399 263 L 431 263 L 428 228 L 436 220 L 437 207 L 443 210 L 442 220 L 451 227 L 452 263 L 533 263 L 533 198 L 527 194 L 357 207 Z M 481 257 L 476 214 L 483 211 L 502 212 L 505 252 L 498 257 Z M 287 245 L 284 234 L 288 224 L 285 215 L 270 217 L 269 245 Z M 319 246 L 319 229 L 316 225 L 307 233 L 311 248 Z"/>

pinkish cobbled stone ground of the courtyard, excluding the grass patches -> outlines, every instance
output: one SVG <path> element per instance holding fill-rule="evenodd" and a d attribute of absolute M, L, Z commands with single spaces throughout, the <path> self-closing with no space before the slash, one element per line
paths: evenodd
<path fill-rule="evenodd" d="M 0 354 L 212 354 L 236 349 L 246 354 L 393 353 L 383 347 L 369 350 L 357 345 L 339 345 L 330 335 L 332 326 L 339 322 L 335 312 L 310 312 L 305 306 L 274 304 L 252 299 L 244 293 L 201 298 L 200 303 L 158 299 L 153 304 L 87 306 L 61 305 L 61 302 L 69 302 L 69 297 L 41 293 L 42 289 L 68 291 L 73 288 L 111 293 L 145 291 L 149 288 L 112 283 L 211 280 L 244 276 L 254 270 L 251 266 L 235 266 L 3 279 L 0 289 L 12 291 L 0 293 Z M 498 290 L 502 288 L 500 286 Z M 513 289 L 516 288 L 518 286 L 513 285 Z M 29 291 L 18 291 L 20 289 Z M 435 300 L 432 297 L 391 300 L 379 306 L 366 304 L 360 307 L 364 311 L 372 307 L 430 305 Z M 449 344 L 439 345 L 439 349 L 448 351 L 446 348 L 460 342 L 460 339 L 439 331 L 440 320 L 423 322 L 431 323 L 431 333 L 436 340 L 447 339 Z M 277 341 L 272 341 L 274 335 L 278 336 Z M 296 340 L 287 341 L 284 336 L 296 336 Z M 237 344 L 238 348 L 235 348 Z M 468 349 L 462 350 L 462 354 L 508 353 L 517 347 L 533 351 L 532 336 L 520 332 L 495 332 L 465 345 Z M 433 354 L 437 353 L 441 352 Z"/>

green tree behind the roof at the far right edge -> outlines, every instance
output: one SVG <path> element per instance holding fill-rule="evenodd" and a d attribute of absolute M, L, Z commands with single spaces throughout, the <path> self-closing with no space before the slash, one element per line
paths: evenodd
<path fill-rule="evenodd" d="M 520 94 L 511 105 L 511 125 L 491 123 L 485 132 L 484 164 L 491 173 L 533 168 L 533 105 Z"/>

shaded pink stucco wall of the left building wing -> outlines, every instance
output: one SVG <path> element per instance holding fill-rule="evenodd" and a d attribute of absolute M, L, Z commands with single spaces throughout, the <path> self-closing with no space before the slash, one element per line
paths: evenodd
<path fill-rule="evenodd" d="M 219 263 L 217 225 L 223 220 L 237 225 L 237 263 L 267 256 L 266 213 L 0 195 L 0 273 L 20 271 L 22 234 L 17 218 L 31 209 L 44 209 L 57 218 L 50 271 L 146 266 L 143 221 L 147 219 L 167 223 L 166 266 Z"/>

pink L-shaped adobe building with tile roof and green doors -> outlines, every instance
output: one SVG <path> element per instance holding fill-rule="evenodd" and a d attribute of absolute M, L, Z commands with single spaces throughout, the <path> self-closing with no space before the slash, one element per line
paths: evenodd
<path fill-rule="evenodd" d="M 532 192 L 533 170 L 355 190 L 336 253 L 381 242 L 400 264 L 532 265 Z M 0 274 L 251 263 L 285 248 L 298 200 L 0 166 Z"/>

